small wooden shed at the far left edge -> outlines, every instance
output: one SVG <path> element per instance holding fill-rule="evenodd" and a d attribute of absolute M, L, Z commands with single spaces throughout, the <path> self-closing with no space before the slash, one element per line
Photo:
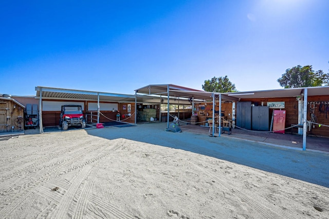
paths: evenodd
<path fill-rule="evenodd" d="M 0 97 L 0 132 L 24 130 L 24 106 L 9 94 Z"/>

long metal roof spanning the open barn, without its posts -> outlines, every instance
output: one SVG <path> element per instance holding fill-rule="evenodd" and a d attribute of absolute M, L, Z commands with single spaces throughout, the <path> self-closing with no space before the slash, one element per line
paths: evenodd
<path fill-rule="evenodd" d="M 170 92 L 170 103 L 176 104 L 177 98 L 180 104 L 189 104 L 187 98 L 193 97 L 197 101 L 212 101 L 212 92 L 200 91 L 196 89 L 181 87 L 177 85 L 148 85 L 136 89 L 136 98 L 138 103 L 159 104 L 160 98 L 163 98 L 163 103 L 167 103 L 167 89 Z M 270 98 L 270 97 L 295 97 L 301 96 L 305 88 L 289 88 L 277 90 L 262 90 L 262 91 L 248 91 L 248 92 L 234 92 L 221 93 L 224 101 L 239 101 L 239 99 L 246 98 Z M 67 99 L 67 100 L 83 100 L 83 101 L 97 101 L 98 95 L 101 102 L 118 102 L 130 103 L 135 102 L 135 95 L 105 93 L 97 91 L 83 91 L 71 90 L 61 88 L 49 87 L 35 87 L 36 98 L 40 98 L 40 91 L 42 91 L 42 98 L 47 99 Z M 219 94 L 219 93 L 214 93 Z M 161 95 L 161 97 L 160 97 Z M 308 96 L 329 95 L 329 86 L 323 87 L 308 87 Z M 196 102 L 197 102 L 196 101 Z"/>

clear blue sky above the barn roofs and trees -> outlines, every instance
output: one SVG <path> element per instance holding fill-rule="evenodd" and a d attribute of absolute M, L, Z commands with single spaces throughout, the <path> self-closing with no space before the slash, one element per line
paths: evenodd
<path fill-rule="evenodd" d="M 35 86 L 133 94 L 149 84 L 281 89 L 329 69 L 329 1 L 2 1 L 0 93 Z"/>

